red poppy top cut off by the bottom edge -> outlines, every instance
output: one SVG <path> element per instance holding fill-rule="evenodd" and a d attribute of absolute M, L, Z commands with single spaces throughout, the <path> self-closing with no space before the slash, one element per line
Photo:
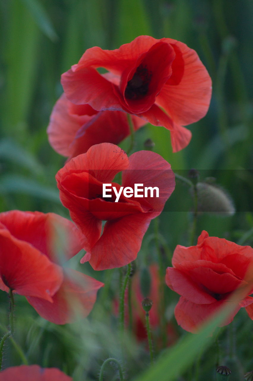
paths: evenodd
<path fill-rule="evenodd" d="M 72 378 L 57 368 L 41 368 L 39 365 L 20 365 L 0 372 L 0 381 L 71 381 Z"/>

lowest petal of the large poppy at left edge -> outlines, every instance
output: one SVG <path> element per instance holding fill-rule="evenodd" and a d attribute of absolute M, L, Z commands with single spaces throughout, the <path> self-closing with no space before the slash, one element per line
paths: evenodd
<path fill-rule="evenodd" d="M 44 319 L 55 324 L 66 324 L 72 322 L 75 315 L 89 315 L 97 291 L 103 286 L 98 280 L 69 269 L 60 289 L 52 297 L 53 303 L 32 297 L 27 300 Z"/>

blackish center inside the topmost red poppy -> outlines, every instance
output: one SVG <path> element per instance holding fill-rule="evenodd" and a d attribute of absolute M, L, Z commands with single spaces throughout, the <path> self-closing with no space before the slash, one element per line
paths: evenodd
<path fill-rule="evenodd" d="M 149 72 L 147 66 L 139 65 L 133 75 L 133 78 L 127 83 L 125 98 L 141 99 L 147 95 L 151 77 L 152 73 Z"/>

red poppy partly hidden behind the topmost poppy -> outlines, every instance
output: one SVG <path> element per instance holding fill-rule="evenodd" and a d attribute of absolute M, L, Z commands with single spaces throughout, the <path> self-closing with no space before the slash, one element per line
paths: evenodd
<path fill-rule="evenodd" d="M 132 120 L 135 130 L 146 123 L 134 115 Z M 54 150 L 71 158 L 94 144 L 118 144 L 130 134 L 130 128 L 125 112 L 98 112 L 89 104 L 71 103 L 63 93 L 52 111 L 47 134 Z"/>

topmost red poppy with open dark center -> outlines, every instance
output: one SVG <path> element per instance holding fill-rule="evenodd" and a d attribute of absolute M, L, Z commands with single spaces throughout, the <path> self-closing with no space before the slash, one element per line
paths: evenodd
<path fill-rule="evenodd" d="M 109 72 L 99 74 L 96 68 Z M 198 54 L 171 38 L 139 36 L 116 50 L 94 46 L 62 75 L 67 98 L 95 110 L 120 110 L 171 131 L 173 151 L 188 145 L 184 125 L 206 115 L 212 85 Z"/>

